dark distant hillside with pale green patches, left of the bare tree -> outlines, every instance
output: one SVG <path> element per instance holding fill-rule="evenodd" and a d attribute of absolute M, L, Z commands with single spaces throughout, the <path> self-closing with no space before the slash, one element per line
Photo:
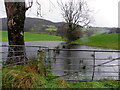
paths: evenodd
<path fill-rule="evenodd" d="M 7 30 L 7 19 L 0 18 L 2 20 L 2 30 Z M 24 29 L 25 32 L 34 32 L 34 33 L 43 33 L 43 34 L 52 34 L 56 35 L 56 32 L 59 27 L 64 22 L 54 23 L 45 19 L 38 18 L 26 18 Z"/>

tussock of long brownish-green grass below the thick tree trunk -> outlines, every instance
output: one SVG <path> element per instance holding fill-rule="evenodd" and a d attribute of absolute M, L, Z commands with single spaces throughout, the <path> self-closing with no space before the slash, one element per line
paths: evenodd
<path fill-rule="evenodd" d="M 3 68 L 3 88 L 36 88 L 43 84 L 43 77 L 37 71 L 37 65 L 16 65 Z"/>

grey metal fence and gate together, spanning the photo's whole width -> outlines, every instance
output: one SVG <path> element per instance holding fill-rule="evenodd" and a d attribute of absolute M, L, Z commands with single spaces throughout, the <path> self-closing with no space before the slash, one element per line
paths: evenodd
<path fill-rule="evenodd" d="M 47 76 L 55 76 L 68 81 L 99 80 L 110 78 L 120 80 L 119 50 L 78 50 L 78 49 L 50 49 L 44 46 L 22 46 L 25 54 L 21 56 L 8 57 L 9 47 L 16 45 L 3 45 L 0 55 L 0 66 L 26 64 L 29 60 L 38 60 L 38 51 L 44 52 L 44 63 Z M 21 47 L 20 45 L 17 45 Z M 22 52 L 22 51 L 14 51 Z M 19 61 L 23 57 L 23 61 Z M 27 59 L 26 59 L 27 58 Z M 17 59 L 17 62 L 7 64 L 6 60 Z"/>

